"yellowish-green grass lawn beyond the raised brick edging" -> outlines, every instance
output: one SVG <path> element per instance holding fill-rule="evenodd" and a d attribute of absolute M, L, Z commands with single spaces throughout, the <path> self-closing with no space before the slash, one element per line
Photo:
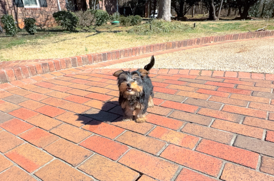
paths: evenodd
<path fill-rule="evenodd" d="M 196 23 L 196 28 L 193 28 Z M 157 33 L 149 32 L 147 24 L 138 26 L 146 33 L 128 33 L 136 27 L 104 25 L 89 32 L 69 33 L 61 27 L 39 30 L 35 35 L 21 31 L 16 37 L 0 34 L 0 61 L 64 58 L 82 54 L 106 52 L 123 48 L 149 45 L 169 41 L 227 35 L 255 31 L 266 25 L 264 20 L 248 21 L 197 21 L 165 23 L 152 27 Z M 267 30 L 274 30 L 274 20 L 268 21 Z M 147 33 L 148 32 L 148 33 Z"/>

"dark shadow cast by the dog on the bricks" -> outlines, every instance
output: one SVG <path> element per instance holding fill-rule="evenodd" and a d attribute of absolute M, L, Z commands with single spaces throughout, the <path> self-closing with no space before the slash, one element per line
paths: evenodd
<path fill-rule="evenodd" d="M 123 111 L 118 101 L 107 101 L 101 109 L 91 108 L 82 114 L 76 114 L 77 121 L 86 125 L 99 125 L 102 122 L 122 121 Z M 92 121 L 90 121 L 92 120 Z"/>

